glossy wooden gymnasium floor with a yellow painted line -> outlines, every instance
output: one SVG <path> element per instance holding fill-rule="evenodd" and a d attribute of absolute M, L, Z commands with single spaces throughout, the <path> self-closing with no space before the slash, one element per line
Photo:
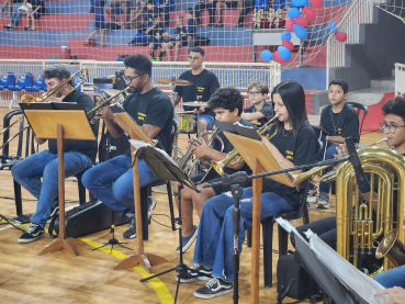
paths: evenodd
<path fill-rule="evenodd" d="M 7 108 L 0 108 L 0 130 L 2 117 L 9 112 Z M 313 117 L 315 119 L 315 117 Z M 312 123 L 316 123 L 313 122 Z M 15 134 L 13 127 L 11 134 Z M 362 137 L 362 143 L 369 144 L 383 136 L 381 132 L 374 132 Z M 180 147 L 185 146 L 185 136 L 180 138 Z M 2 139 L 0 138 L 0 142 Z M 47 144 L 42 149 L 46 148 Z M 10 146 L 10 155 L 15 155 L 16 142 Z M 168 217 L 160 214 L 169 214 L 167 194 L 154 193 L 157 206 L 153 218 L 170 225 Z M 35 211 L 36 201 L 23 190 L 23 212 Z M 66 200 L 68 207 L 78 204 L 77 182 L 72 179 L 66 181 Z M 316 221 L 335 214 L 335 198 L 331 196 L 333 207 L 328 211 L 310 211 L 311 221 Z M 4 216 L 15 215 L 13 200 L 13 183 L 8 170 L 0 171 L 0 214 Z M 177 212 L 176 212 L 177 215 Z M 194 222 L 199 223 L 194 215 Z M 2 223 L 3 224 L 3 223 Z M 302 225 L 302 219 L 292 223 Z M 22 225 L 26 228 L 27 225 Z M 119 226 L 115 235 L 123 240 L 122 234 L 127 225 Z M 113 255 L 110 249 L 92 250 L 111 238 L 110 229 L 85 236 L 85 243 L 78 247 L 79 256 L 72 257 L 66 251 L 58 251 L 38 256 L 37 254 L 48 245 L 52 239 L 46 235 L 42 239 L 31 244 L 19 244 L 16 240 L 22 233 L 9 225 L 0 225 L 0 303 L 173 303 L 176 293 L 175 272 L 170 272 L 154 279 L 150 283 L 140 283 L 139 279 L 147 277 L 140 267 L 126 270 L 112 270 L 112 267 L 125 256 L 134 254 L 128 249 L 114 247 Z M 278 234 L 275 228 L 274 234 Z M 274 236 L 277 239 L 277 235 Z M 126 246 L 136 248 L 136 239 L 127 241 Z M 178 232 L 151 222 L 149 226 L 149 240 L 145 241 L 145 252 L 153 252 L 165 257 L 169 262 L 154 267 L 154 272 L 168 270 L 179 262 L 176 254 L 178 246 Z M 291 247 L 291 245 L 290 245 Z M 192 264 L 194 245 L 184 254 L 184 262 Z M 274 249 L 277 241 L 274 241 Z M 261 252 L 262 255 L 262 252 Z M 239 274 L 239 302 L 248 303 L 250 294 L 250 249 L 244 245 L 240 257 Z M 260 303 L 277 303 L 277 260 L 273 258 L 273 288 L 266 289 L 260 274 Z M 262 261 L 262 258 L 260 259 Z M 261 268 L 262 269 L 262 268 Z M 207 303 L 193 296 L 193 291 L 203 286 L 204 282 L 180 284 L 178 303 Z M 229 303 L 232 294 L 216 297 L 212 303 Z M 285 303 L 293 302 L 285 299 Z"/>

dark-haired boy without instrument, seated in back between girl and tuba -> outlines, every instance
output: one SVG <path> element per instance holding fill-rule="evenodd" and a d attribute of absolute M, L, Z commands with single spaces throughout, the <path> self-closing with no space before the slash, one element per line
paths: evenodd
<path fill-rule="evenodd" d="M 359 119 L 355 109 L 345 103 L 349 97 L 349 86 L 345 80 L 331 80 L 329 82 L 328 98 L 330 105 L 325 106 L 320 114 L 319 126 L 329 135 L 326 136 L 325 159 L 333 159 L 339 144 L 345 144 L 345 137 L 351 136 L 359 142 Z M 333 168 L 324 170 L 324 174 Z M 329 209 L 330 182 L 319 183 L 319 196 L 316 209 Z"/>

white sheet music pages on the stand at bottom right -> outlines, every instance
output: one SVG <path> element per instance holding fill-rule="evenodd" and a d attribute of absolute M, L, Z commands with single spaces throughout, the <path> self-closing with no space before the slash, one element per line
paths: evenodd
<path fill-rule="evenodd" d="M 361 303 L 384 304 L 386 295 L 373 296 L 384 288 L 344 259 L 311 229 L 305 233 L 310 238 L 307 243 L 288 221 L 281 217 L 275 221 L 294 234 L 295 249 L 303 259 L 303 267 L 336 303 L 355 303 L 349 296 L 351 294 Z M 340 290 L 333 278 L 341 284 Z"/>

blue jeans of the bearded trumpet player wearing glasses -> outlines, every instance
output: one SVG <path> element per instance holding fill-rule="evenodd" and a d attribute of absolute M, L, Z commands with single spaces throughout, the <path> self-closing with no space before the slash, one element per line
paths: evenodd
<path fill-rule="evenodd" d="M 139 159 L 140 188 L 158 180 L 145 161 Z M 124 216 L 134 213 L 134 183 L 132 159 L 120 155 L 86 171 L 81 178 L 83 185 L 109 209 Z M 113 184 L 114 183 L 114 184 Z"/>

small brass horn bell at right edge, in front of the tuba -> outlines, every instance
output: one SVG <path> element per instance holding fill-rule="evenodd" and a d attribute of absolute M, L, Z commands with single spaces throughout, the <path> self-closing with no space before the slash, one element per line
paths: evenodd
<path fill-rule="evenodd" d="M 405 245 L 398 239 L 397 229 L 392 229 L 383 237 L 375 250 L 375 257 L 386 257 L 394 267 L 405 264 Z"/>

